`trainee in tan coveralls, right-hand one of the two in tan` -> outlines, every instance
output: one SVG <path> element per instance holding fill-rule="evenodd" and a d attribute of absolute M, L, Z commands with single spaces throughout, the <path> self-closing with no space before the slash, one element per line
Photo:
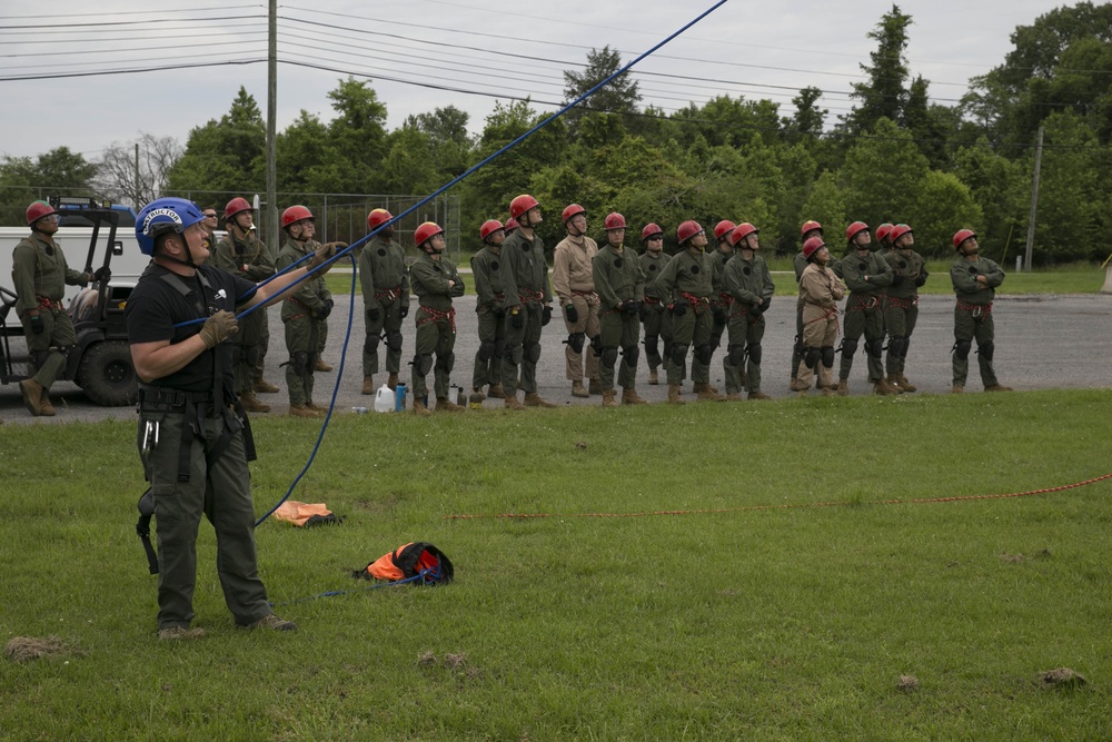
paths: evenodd
<path fill-rule="evenodd" d="M 803 244 L 807 267 L 800 279 L 803 301 L 803 360 L 800 362 L 800 396 L 807 396 L 811 375 L 817 369 L 818 388 L 834 394 L 834 342 L 837 340 L 837 303 L 845 297 L 842 280 L 828 267 L 830 250 L 822 237 L 811 237 Z"/>

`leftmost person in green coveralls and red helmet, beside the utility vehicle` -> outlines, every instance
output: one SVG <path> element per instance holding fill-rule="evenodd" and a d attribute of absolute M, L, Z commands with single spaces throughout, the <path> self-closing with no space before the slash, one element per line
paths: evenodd
<path fill-rule="evenodd" d="M 66 285 L 86 286 L 92 280 L 107 281 L 107 268 L 78 273 L 66 263 L 62 248 L 54 241 L 58 211 L 46 201 L 27 207 L 31 234 L 16 245 L 11 254 L 11 276 L 16 285 L 16 314 L 23 323 L 23 337 L 30 355 L 31 378 L 19 383 L 23 405 L 34 417 L 52 417 L 50 387 L 66 370 L 66 360 L 77 345 L 77 333 L 62 308 Z"/>

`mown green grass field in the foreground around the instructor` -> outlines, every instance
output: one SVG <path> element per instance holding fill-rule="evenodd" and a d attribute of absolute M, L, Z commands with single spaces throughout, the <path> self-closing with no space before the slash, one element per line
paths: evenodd
<path fill-rule="evenodd" d="M 155 636 L 133 426 L 0 427 L 0 635 L 64 645 L 0 659 L 0 738 L 1109 739 L 1112 479 L 983 497 L 1108 474 L 1110 403 L 337 416 L 294 498 L 344 523 L 257 532 L 300 630 L 232 626 L 202 524 L 207 635 L 179 644 Z M 259 513 L 318 429 L 256 423 Z M 414 540 L 455 583 L 349 576 Z M 1040 682 L 1063 666 L 1088 684 Z"/>

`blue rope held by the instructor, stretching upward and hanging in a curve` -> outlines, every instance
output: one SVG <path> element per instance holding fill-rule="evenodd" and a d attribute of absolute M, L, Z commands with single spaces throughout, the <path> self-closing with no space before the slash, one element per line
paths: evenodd
<path fill-rule="evenodd" d="M 453 178 L 451 180 L 449 180 L 447 184 L 440 186 L 435 191 L 433 191 L 431 194 L 429 194 L 428 196 L 426 196 L 421 200 L 417 201 L 416 204 L 414 204 L 408 209 L 406 209 L 405 211 L 400 212 L 399 215 L 397 215 L 396 217 L 394 217 L 389 221 L 383 222 L 381 225 L 378 226 L 377 229 L 375 229 L 374 231 L 371 231 L 370 234 L 368 234 L 363 239 L 357 240 L 354 244 L 349 245 L 348 247 L 344 248 L 342 250 L 340 250 L 339 253 L 337 253 L 336 255 L 334 255 L 331 258 L 329 258 L 327 263 L 318 266 L 312 271 L 310 271 L 309 274 L 307 274 L 305 276 L 305 278 L 308 278 L 309 276 L 311 276 L 312 274 L 319 271 L 320 269 L 322 269 L 322 268 L 325 268 L 327 266 L 330 266 L 332 263 L 335 263 L 335 261 L 337 261 L 337 260 L 339 260 L 339 259 L 341 259 L 344 257 L 347 257 L 351 253 L 351 250 L 354 250 L 355 248 L 357 248 L 360 245 L 363 245 L 364 243 L 366 243 L 368 239 L 370 239 L 371 237 L 374 237 L 375 235 L 377 235 L 379 231 L 381 231 L 388 225 L 391 225 L 395 221 L 398 221 L 399 219 L 401 219 L 403 217 L 405 217 L 405 216 L 407 216 L 407 215 L 416 211 L 417 209 L 419 209 L 420 207 L 425 206 L 426 204 L 428 204 L 430 200 L 433 200 L 434 198 L 436 198 L 437 196 L 439 196 L 444 191 L 446 191 L 449 188 L 451 188 L 453 186 L 455 186 L 457 182 L 459 182 L 464 178 L 467 178 L 468 176 L 470 176 L 476 170 L 479 170 L 480 168 L 485 167 L 487 164 L 494 161 L 495 159 L 497 159 L 497 158 L 502 157 L 503 155 L 505 155 L 506 152 L 508 152 L 514 147 L 517 147 L 519 144 L 522 144 L 523 141 L 525 141 L 526 139 L 528 139 L 529 137 L 532 137 L 533 135 L 535 135 L 536 132 L 540 131 L 540 129 L 544 129 L 546 126 L 548 126 L 549 123 L 552 123 L 553 121 L 555 121 L 556 119 L 558 119 L 560 116 L 563 116 L 567 111 L 572 110 L 573 108 L 575 108 L 579 103 L 582 103 L 585 100 L 587 100 L 588 98 L 590 98 L 599 89 L 602 89 L 605 86 L 609 85 L 616 77 L 618 77 L 619 75 L 623 75 L 624 72 L 627 72 L 634 65 L 636 65 L 637 62 L 642 61 L 646 57 L 649 57 L 653 53 L 655 53 L 661 47 L 663 47 L 664 44 L 668 43 L 669 41 L 672 41 L 676 37 L 681 36 L 682 33 L 684 33 L 687 29 L 689 29 L 691 27 L 695 26 L 695 23 L 698 23 L 701 20 L 703 20 L 704 18 L 706 18 L 707 16 L 709 16 L 711 13 L 713 13 L 715 10 L 717 10 L 718 8 L 721 8 L 725 3 L 726 3 L 726 0 L 718 0 L 718 2 L 714 3 L 708 9 L 704 10 L 702 13 L 699 13 L 698 16 L 696 16 L 693 20 L 691 20 L 687 23 L 685 23 L 678 31 L 675 31 L 671 36 L 666 37 L 664 40 L 657 42 L 655 46 L 653 46 L 647 51 L 641 53 L 636 59 L 632 60 L 625 67 L 623 67 L 622 69 L 617 70 L 616 72 L 614 72 L 613 75 L 610 75 L 609 77 L 607 77 L 605 80 L 603 80 L 602 82 L 599 82 L 598 85 L 596 85 L 594 88 L 592 88 L 590 90 L 586 91 L 585 93 L 583 93 L 582 96 L 579 96 L 578 98 L 576 98 L 575 100 L 573 100 L 572 102 L 569 102 L 568 105 L 566 105 L 564 108 L 559 109 L 558 111 L 556 111 L 555 113 L 553 113 L 552 116 L 549 116 L 548 118 L 546 118 L 545 120 L 543 120 L 539 123 L 537 123 L 535 127 L 533 127 L 532 129 L 529 129 L 528 131 L 526 131 L 525 133 L 523 133 L 520 137 L 518 137 L 514 141 L 509 142 L 508 145 L 506 145 L 505 147 L 503 147 L 498 151 L 496 151 L 493 155 L 488 156 L 486 159 L 484 159 L 483 161 L 478 162 L 477 165 L 471 166 L 470 168 L 468 168 L 467 170 L 465 170 L 460 175 L 456 176 L 455 178 Z M 310 255 L 305 256 L 304 258 L 301 258 L 301 260 L 298 260 L 294 265 L 291 265 L 288 268 L 286 268 L 286 270 L 284 270 L 282 274 L 285 274 L 286 271 L 292 270 L 294 268 L 297 268 L 304 260 L 307 260 L 310 257 L 311 257 Z M 320 449 L 320 443 L 325 438 L 325 431 L 328 429 L 328 423 L 329 423 L 329 421 L 331 419 L 331 416 L 332 416 L 332 408 L 336 406 L 336 395 L 339 392 L 340 380 L 342 379 L 342 375 L 344 375 L 342 374 L 342 372 L 344 372 L 344 358 L 347 355 L 348 340 L 351 337 L 351 318 L 353 318 L 353 314 L 354 314 L 353 309 L 355 307 L 355 286 L 356 286 L 356 267 L 355 267 L 355 260 L 351 260 L 351 264 L 353 264 L 351 265 L 351 306 L 348 307 L 348 326 L 347 326 L 347 332 L 344 335 L 344 349 L 342 349 L 342 352 L 340 354 L 340 373 L 338 373 L 336 375 L 336 386 L 332 388 L 332 396 L 331 396 L 331 399 L 328 403 L 328 414 L 325 416 L 325 422 L 320 426 L 320 434 L 317 436 L 317 443 L 312 447 L 312 452 L 309 454 L 309 459 L 305 463 L 305 467 L 297 475 L 297 477 L 295 477 L 295 479 L 290 483 L 289 488 L 286 491 L 286 494 L 282 496 L 282 498 L 280 501 L 278 501 L 278 503 L 274 507 L 271 507 L 269 511 L 267 511 L 267 513 L 265 515 L 262 515 L 262 517 L 260 517 L 258 521 L 255 522 L 255 527 L 258 527 L 259 525 L 262 524 L 264 521 L 266 521 L 268 517 L 270 517 L 270 515 L 276 509 L 278 509 L 278 507 L 282 503 L 285 503 L 289 498 L 289 496 L 294 493 L 294 488 L 297 486 L 297 483 L 301 481 L 301 477 L 304 477 L 305 474 L 309 471 L 309 467 L 312 466 L 312 462 L 317 457 L 317 452 Z M 274 276 L 271 278 L 268 278 L 267 280 L 262 281 L 259 285 L 260 286 L 265 286 L 266 284 L 270 283 L 271 280 L 274 280 L 275 278 L 277 278 L 278 276 L 280 276 L 282 274 L 277 274 L 276 276 Z M 305 278 L 302 278 L 301 280 L 305 280 Z M 295 284 L 291 284 L 290 286 L 287 286 L 281 291 L 279 291 L 276 296 L 280 296 L 281 294 L 285 294 L 286 291 L 288 291 L 291 288 L 294 288 L 295 286 L 297 286 L 297 284 L 299 284 L 299 283 L 300 283 L 300 280 L 297 281 L 297 283 L 295 283 Z M 250 294 L 245 294 L 244 296 L 240 297 L 240 300 L 245 300 L 246 298 L 249 298 L 249 296 L 250 296 Z M 258 308 L 257 306 L 249 307 L 246 310 L 244 310 L 241 314 L 239 314 L 237 316 L 237 318 L 246 317 L 250 313 L 255 311 L 255 309 L 257 309 L 257 308 Z M 186 323 L 186 324 L 193 324 L 193 323 L 198 323 L 198 321 L 203 321 L 203 319 L 196 319 L 196 320 L 191 320 L 190 323 Z"/>

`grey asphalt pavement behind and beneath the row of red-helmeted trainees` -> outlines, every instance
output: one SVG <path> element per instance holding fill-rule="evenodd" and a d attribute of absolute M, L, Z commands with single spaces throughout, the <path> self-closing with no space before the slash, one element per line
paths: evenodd
<path fill-rule="evenodd" d="M 326 405 L 330 400 L 332 389 L 339 380 L 336 395 L 336 412 L 350 413 L 353 407 L 374 406 L 373 396 L 360 394 L 363 386 L 363 344 L 364 318 L 363 300 L 356 299 L 355 311 L 347 345 L 342 376 L 339 374 L 339 363 L 347 334 L 348 309 L 350 297 L 335 296 L 336 307 L 328 320 L 328 346 L 325 360 L 332 364 L 336 370 L 316 376 L 317 404 Z M 416 306 L 416 299 L 414 299 Z M 475 297 L 473 295 L 456 299 L 456 366 L 451 374 L 453 384 L 470 387 L 471 367 L 475 353 L 478 349 L 476 334 Z M 945 394 L 951 388 L 951 356 L 953 337 L 952 296 L 923 296 L 920 298 L 919 325 L 911 339 L 905 374 L 919 387 L 916 394 Z M 993 317 L 996 324 L 996 374 L 1002 384 L 1016 390 L 1048 388 L 1101 388 L 1109 385 L 1109 362 L 1112 359 L 1112 334 L 1109 332 L 1109 319 L 1112 317 L 1112 296 L 1110 295 L 1033 295 L 1033 296 L 997 296 L 993 305 Z M 762 390 L 774 399 L 794 396 L 787 385 L 791 372 L 792 343 L 795 336 L 795 299 L 777 296 L 765 315 L 767 329 L 763 343 L 764 360 L 762 363 Z M 267 356 L 268 380 L 278 384 L 282 390 L 278 394 L 259 395 L 259 398 L 272 406 L 270 415 L 282 415 L 289 409 L 286 395 L 285 369 L 279 364 L 286 360 L 284 332 L 277 310 L 269 311 L 270 352 Z M 401 377 L 408 384 L 413 358 L 414 337 L 413 316 L 404 321 Z M 597 405 L 599 397 L 589 399 L 572 397 L 570 382 L 564 378 L 563 340 L 567 338 L 564 323 L 554 316 L 553 321 L 544 328 L 542 337 L 542 357 L 537 368 L 537 383 L 542 396 L 559 405 Z M 20 343 L 21 340 L 14 340 Z M 863 346 L 862 346 L 863 347 Z M 851 395 L 862 395 L 871 392 L 866 380 L 866 364 L 862 347 L 854 359 L 853 374 L 850 378 Z M 723 348 L 715 353 L 711 362 L 711 379 L 719 390 L 724 390 L 722 373 Z M 379 354 L 383 355 L 381 346 Z M 380 358 L 380 368 L 385 368 Z M 689 358 L 688 358 L 689 363 Z M 837 373 L 835 362 L 835 376 Z M 659 386 L 647 383 L 648 368 L 645 365 L 644 353 L 641 356 L 637 373 L 637 392 L 651 403 L 663 403 L 667 397 L 667 386 L 664 369 L 661 369 Z M 375 377 L 376 385 L 386 380 L 386 374 Z M 431 374 L 428 383 L 431 386 Z M 970 378 L 966 393 L 981 389 L 980 376 L 976 372 L 974 356 L 970 358 Z M 691 382 L 684 384 L 684 396 L 694 400 L 691 394 Z M 86 398 L 75 384 L 60 382 L 54 385 L 51 394 L 56 417 L 31 417 L 23 407 L 18 385 L 0 387 L 0 419 L 4 424 L 60 424 L 69 421 L 99 421 L 107 418 L 135 419 L 132 407 L 99 407 Z M 736 403 L 732 403 L 736 404 Z M 741 404 L 759 404 L 744 402 Z M 775 404 L 775 403 L 764 403 Z M 500 408 L 502 400 L 489 399 L 485 408 Z M 256 415 L 258 417 L 258 415 Z"/>

